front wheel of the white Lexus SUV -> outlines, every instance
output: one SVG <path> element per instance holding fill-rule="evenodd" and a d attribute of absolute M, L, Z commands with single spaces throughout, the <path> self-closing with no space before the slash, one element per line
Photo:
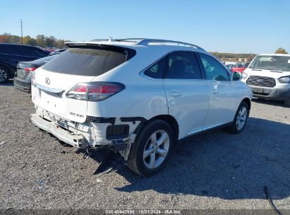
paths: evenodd
<path fill-rule="evenodd" d="M 226 130 L 232 134 L 239 134 L 243 132 L 248 120 L 249 108 L 248 104 L 244 101 L 238 106 L 236 115 L 234 117 L 234 122 L 226 128 Z"/>

